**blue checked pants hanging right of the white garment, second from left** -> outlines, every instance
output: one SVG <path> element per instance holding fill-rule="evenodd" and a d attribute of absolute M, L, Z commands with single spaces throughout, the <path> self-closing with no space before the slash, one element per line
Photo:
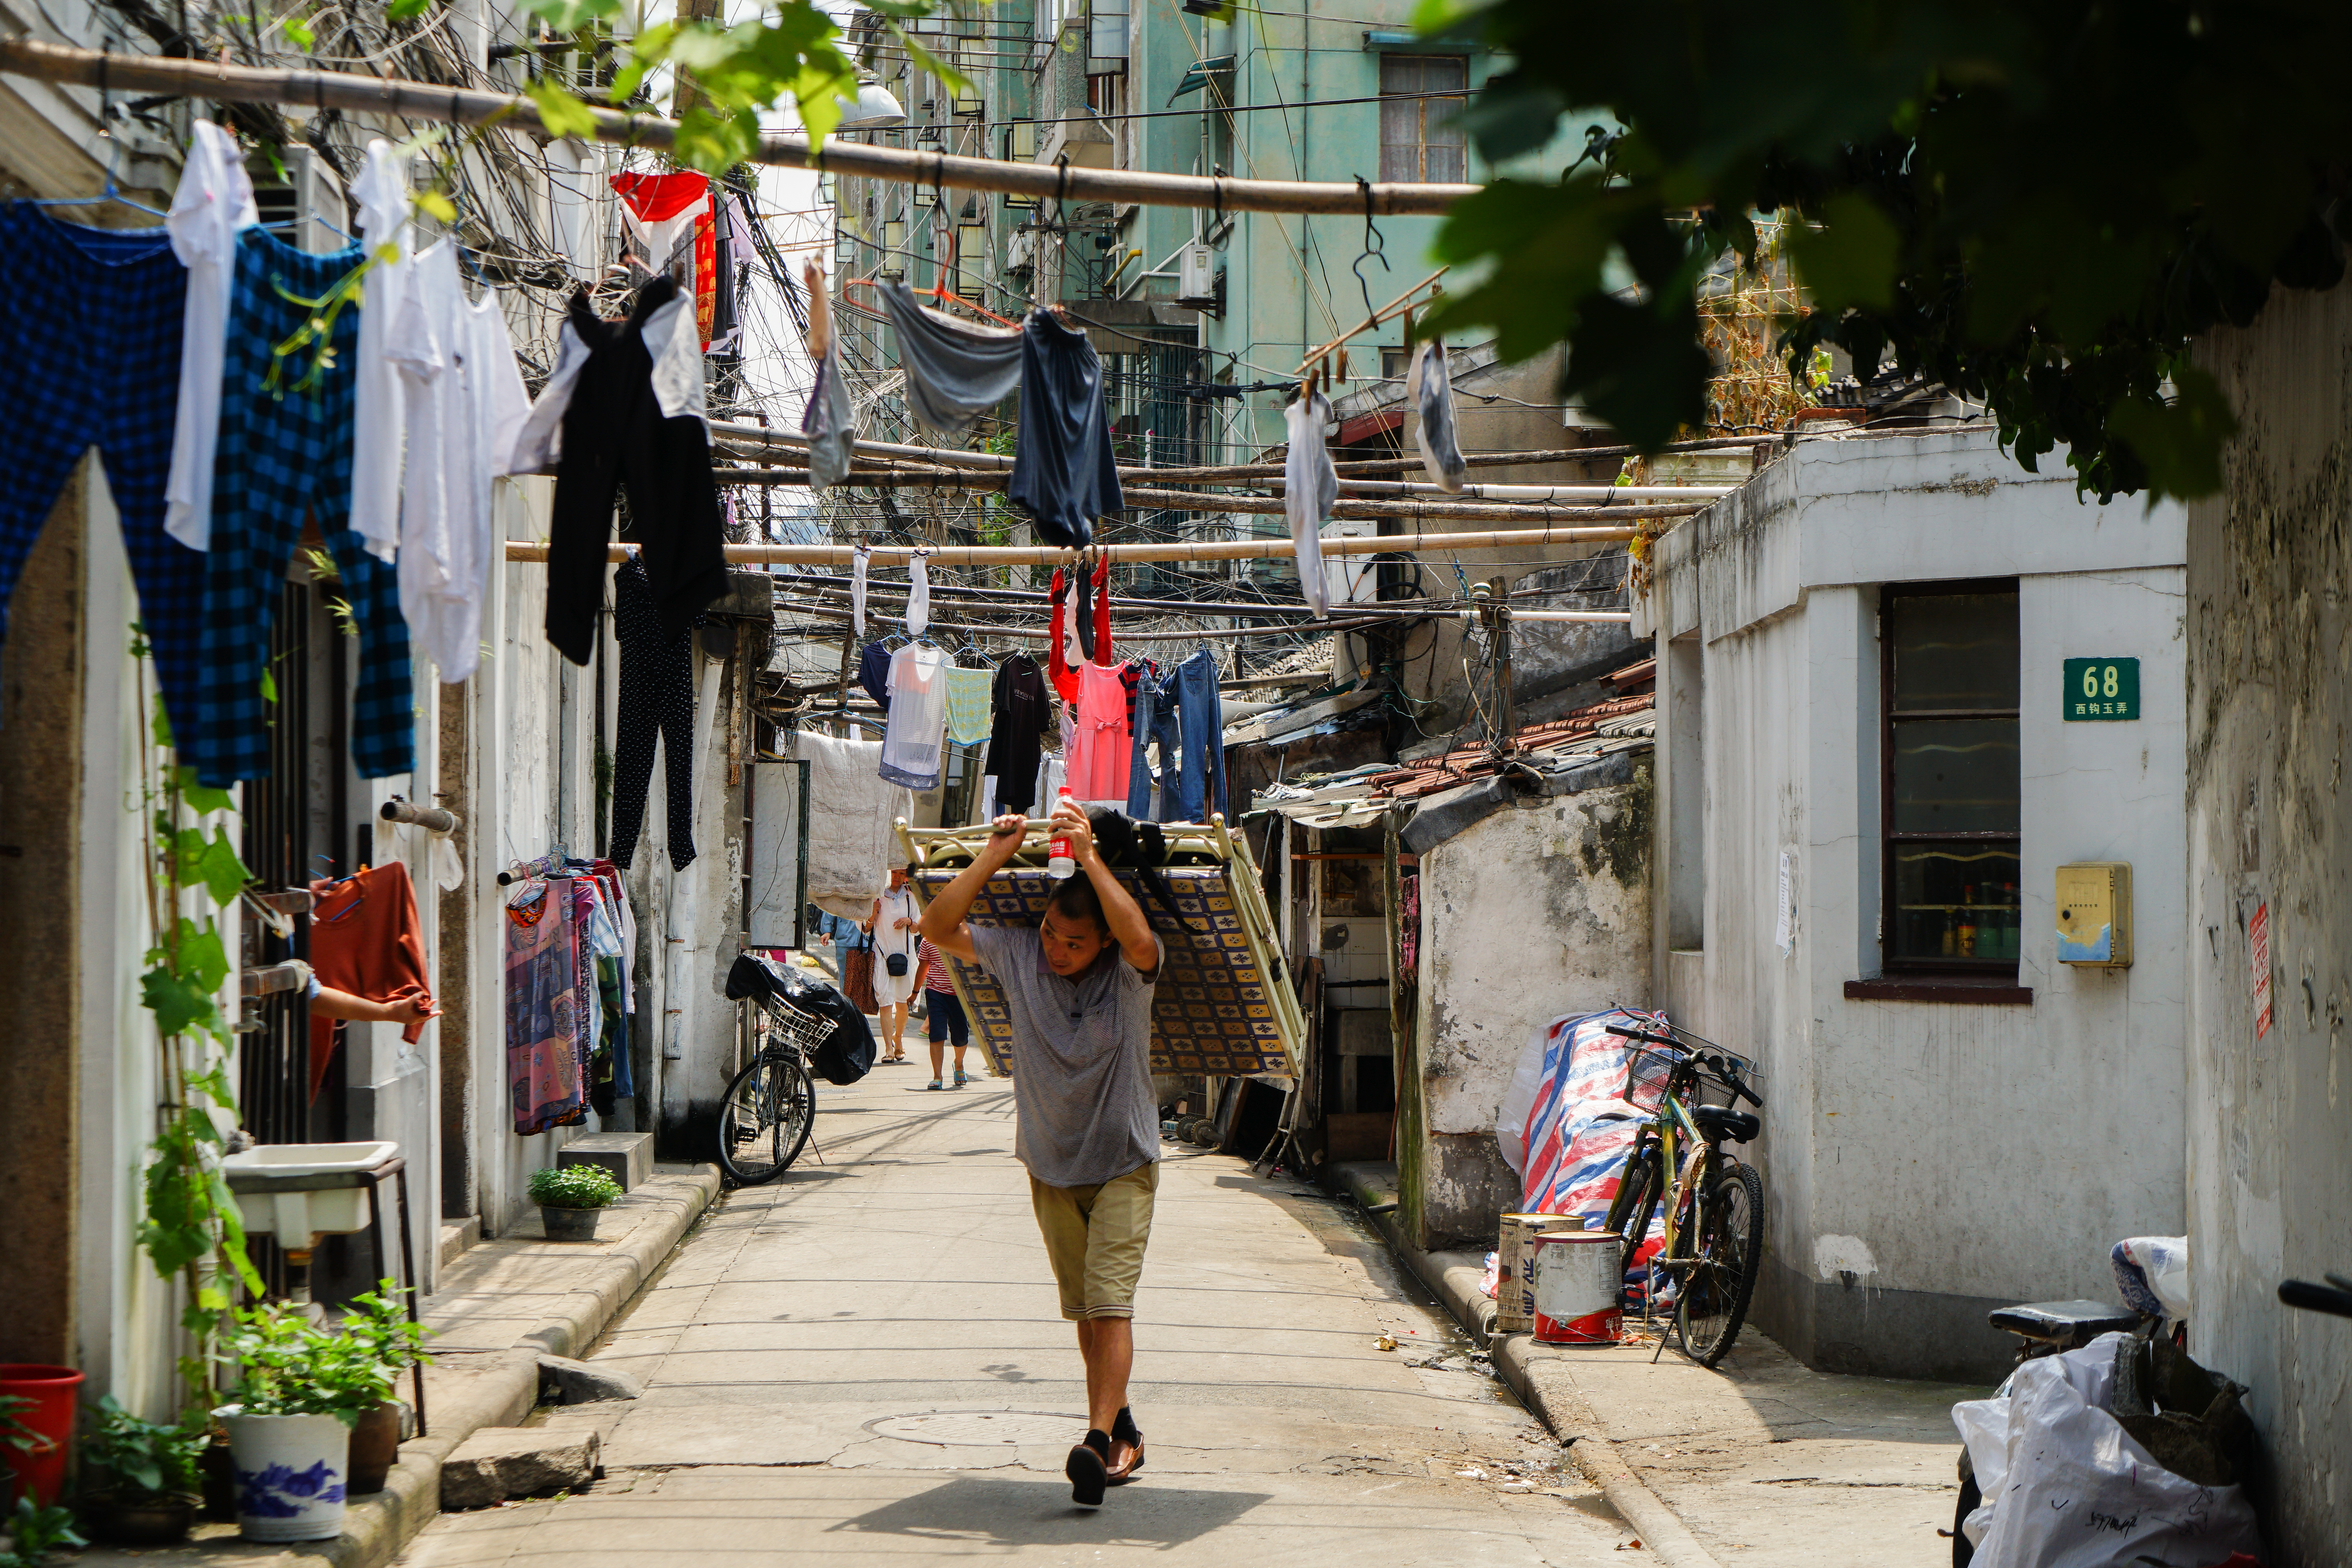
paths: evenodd
<path fill-rule="evenodd" d="M 313 374 L 315 343 L 287 355 L 278 371 L 280 386 L 268 386 L 273 348 L 313 315 L 301 301 L 325 299 L 355 266 L 358 244 L 313 256 L 261 228 L 238 235 L 228 364 L 221 376 L 221 444 L 212 480 L 198 722 L 195 743 L 181 745 L 207 785 L 226 788 L 270 771 L 270 703 L 261 675 L 278 590 L 303 522 L 315 522 L 327 541 L 341 571 L 332 592 L 350 604 L 360 625 L 350 759 L 362 778 L 407 773 L 414 766 L 409 625 L 400 618 L 397 576 L 350 529 L 358 303 L 343 306 L 336 317 L 334 360 L 315 386 L 296 386 Z"/>

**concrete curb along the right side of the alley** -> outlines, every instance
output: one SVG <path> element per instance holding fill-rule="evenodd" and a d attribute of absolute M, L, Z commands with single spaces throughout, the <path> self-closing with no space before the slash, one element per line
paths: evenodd
<path fill-rule="evenodd" d="M 1576 1469 L 1639 1533 L 1642 1544 L 1656 1552 L 1668 1568 L 1722 1568 L 1675 1509 L 1635 1474 L 1616 1443 L 1602 1436 L 1599 1418 L 1583 1389 L 1576 1387 L 1569 1354 L 1538 1345 L 1526 1333 L 1494 1333 L 1494 1298 L 1484 1291 L 1484 1258 L 1477 1253 L 1425 1253 L 1411 1246 L 1397 1227 L 1397 1194 L 1381 1185 L 1381 1171 L 1345 1161 L 1331 1171 L 1381 1232 L 1381 1239 L 1388 1241 L 1388 1248 L 1454 1314 L 1463 1333 L 1494 1356 L 1494 1371 L 1510 1385 L 1510 1392 L 1566 1446 Z"/>

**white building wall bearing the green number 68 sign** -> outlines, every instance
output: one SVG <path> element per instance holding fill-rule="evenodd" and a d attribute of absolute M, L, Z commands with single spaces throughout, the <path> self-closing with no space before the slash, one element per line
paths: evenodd
<path fill-rule="evenodd" d="M 1766 1067 L 1757 1314 L 1813 1363 L 1985 1375 L 2006 1354 L 1990 1305 L 2112 1298 L 2107 1248 L 2183 1227 L 2183 548 L 2178 508 L 2079 503 L 1990 430 L 1804 442 L 1661 541 L 1637 630 L 1696 632 L 1705 682 L 1703 952 L 1672 959 L 1672 1004 Z M 2034 997 L 1849 999 L 1879 976 L 1877 590 L 1983 576 L 2020 583 Z M 2060 661 L 2096 654 L 2140 658 L 2147 717 L 2060 722 Z M 1661 665 L 1672 790 L 1691 693 Z M 2133 865 L 2136 966 L 2056 964 L 2070 860 Z"/>

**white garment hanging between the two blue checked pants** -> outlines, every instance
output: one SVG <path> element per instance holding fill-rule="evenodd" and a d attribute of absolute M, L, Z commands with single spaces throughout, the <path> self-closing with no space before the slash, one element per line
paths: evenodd
<path fill-rule="evenodd" d="M 212 541 L 212 447 L 221 437 L 228 289 L 238 270 L 238 233 L 259 221 L 254 181 L 235 136 L 198 120 L 165 219 L 172 252 L 188 268 L 188 313 L 179 339 L 179 416 L 162 527 L 191 550 Z"/>

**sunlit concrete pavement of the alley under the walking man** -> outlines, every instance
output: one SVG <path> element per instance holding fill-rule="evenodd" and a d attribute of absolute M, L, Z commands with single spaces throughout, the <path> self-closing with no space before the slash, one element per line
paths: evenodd
<path fill-rule="evenodd" d="M 1136 1298 L 1148 1460 L 1075 1507 L 1082 1368 L 1011 1088 L 927 1077 L 818 1086 L 823 1164 L 729 1194 L 614 1324 L 595 1359 L 644 1399 L 550 1413 L 604 1432 L 593 1493 L 447 1514 L 405 1561 L 1625 1561 L 1350 1204 L 1174 1150 Z"/>

